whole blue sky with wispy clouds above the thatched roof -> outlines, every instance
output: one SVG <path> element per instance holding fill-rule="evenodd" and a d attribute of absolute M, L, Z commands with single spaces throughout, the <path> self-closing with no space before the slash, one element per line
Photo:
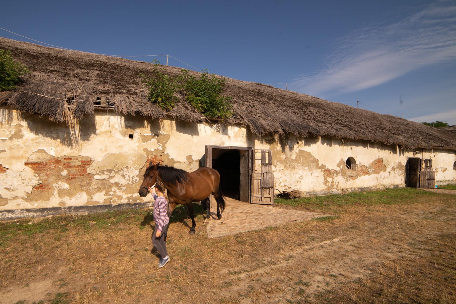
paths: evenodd
<path fill-rule="evenodd" d="M 9 1 L 2 10 L 0 27 L 48 44 L 169 54 L 226 77 L 456 124 L 455 0 Z"/>

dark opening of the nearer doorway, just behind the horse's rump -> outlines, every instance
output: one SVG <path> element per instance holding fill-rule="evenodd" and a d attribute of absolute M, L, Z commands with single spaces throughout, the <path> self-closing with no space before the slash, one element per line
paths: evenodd
<path fill-rule="evenodd" d="M 221 152 L 217 158 L 212 160 L 212 168 L 220 173 L 223 195 L 238 200 L 241 184 L 239 150 L 222 150 Z"/>

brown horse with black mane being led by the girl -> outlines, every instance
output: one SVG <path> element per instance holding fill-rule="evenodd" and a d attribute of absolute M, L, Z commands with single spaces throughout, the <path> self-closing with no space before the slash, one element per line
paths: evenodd
<path fill-rule="evenodd" d="M 217 217 L 222 217 L 225 209 L 225 200 L 223 199 L 222 189 L 220 188 L 220 174 L 211 168 L 202 167 L 193 172 L 187 172 L 166 165 L 155 166 L 150 162 L 149 167 L 145 170 L 144 180 L 140 185 L 138 193 L 141 197 L 147 195 L 150 186 L 154 185 L 157 180 L 160 180 L 168 192 L 168 216 L 171 219 L 171 214 L 177 204 L 187 205 L 188 213 L 192 218 L 192 228 L 190 234 L 195 233 L 195 219 L 193 216 L 193 202 L 206 202 L 207 215 L 206 221 L 209 219 L 209 210 L 212 195 L 217 201 Z M 206 222 L 205 221 L 205 222 Z"/>

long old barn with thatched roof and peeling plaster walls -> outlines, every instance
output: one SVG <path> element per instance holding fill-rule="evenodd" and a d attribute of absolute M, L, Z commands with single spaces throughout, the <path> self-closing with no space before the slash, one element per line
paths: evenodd
<path fill-rule="evenodd" d="M 0 92 L 0 211 L 142 203 L 150 161 L 212 166 L 226 196 L 262 204 L 287 189 L 456 182 L 451 130 L 229 78 L 233 118 L 209 120 L 182 97 L 164 112 L 139 77 L 152 75 L 151 63 L 5 38 L 0 48 L 31 71 Z"/>

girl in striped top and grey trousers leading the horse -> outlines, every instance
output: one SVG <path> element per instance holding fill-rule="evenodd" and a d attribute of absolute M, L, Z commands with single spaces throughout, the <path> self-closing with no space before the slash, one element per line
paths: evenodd
<path fill-rule="evenodd" d="M 153 189 L 153 190 L 152 190 Z M 168 252 L 166 251 L 165 238 L 168 230 L 168 201 L 165 198 L 165 186 L 161 181 L 155 183 L 155 188 L 149 188 L 154 197 L 154 221 L 155 231 L 152 234 L 152 244 L 160 252 L 161 259 L 158 262 L 158 268 L 162 268 L 169 262 Z"/>

